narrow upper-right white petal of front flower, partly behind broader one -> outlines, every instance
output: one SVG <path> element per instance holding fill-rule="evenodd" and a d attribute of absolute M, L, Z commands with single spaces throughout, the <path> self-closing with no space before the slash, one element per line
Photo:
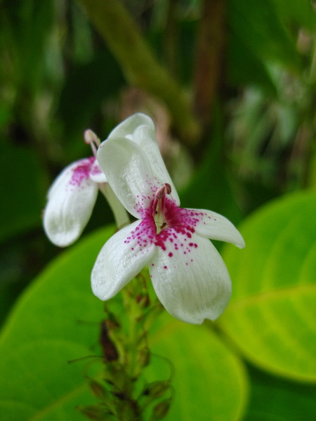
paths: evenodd
<path fill-rule="evenodd" d="M 164 165 L 164 160 L 160 154 L 159 145 L 157 142 L 156 135 L 154 133 L 154 127 L 152 126 L 138 126 L 133 133 L 133 141 L 136 142 L 145 152 L 150 166 L 152 167 L 152 173 L 159 182 L 164 185 L 166 182 L 171 185 L 171 196 L 175 199 L 176 204 L 180 205 L 180 199 L 176 191 L 176 187 L 173 185 L 173 181 Z"/>

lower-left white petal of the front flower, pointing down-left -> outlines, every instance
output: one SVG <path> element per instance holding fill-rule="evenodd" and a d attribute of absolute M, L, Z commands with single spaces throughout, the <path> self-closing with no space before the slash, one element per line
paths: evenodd
<path fill-rule="evenodd" d="M 100 300 L 114 297 L 152 259 L 151 230 L 143 221 L 136 221 L 105 243 L 91 274 L 93 293 Z"/>

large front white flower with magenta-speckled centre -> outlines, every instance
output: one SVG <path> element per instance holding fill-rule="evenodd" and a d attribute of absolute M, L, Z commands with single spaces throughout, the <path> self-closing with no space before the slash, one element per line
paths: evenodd
<path fill-rule="evenodd" d="M 228 305 L 228 270 L 209 239 L 244 247 L 226 218 L 180 208 L 154 135 L 154 123 L 134 114 L 98 149 L 98 162 L 115 194 L 138 220 L 114 234 L 91 274 L 101 300 L 116 295 L 145 265 L 166 310 L 187 323 L 216 319 Z"/>

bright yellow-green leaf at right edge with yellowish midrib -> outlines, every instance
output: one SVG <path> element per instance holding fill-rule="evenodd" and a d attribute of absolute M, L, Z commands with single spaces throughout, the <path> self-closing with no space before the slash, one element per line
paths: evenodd
<path fill-rule="evenodd" d="M 233 282 L 218 323 L 253 363 L 316 380 L 316 194 L 270 203 L 244 222 L 246 248 L 223 253 Z"/>

